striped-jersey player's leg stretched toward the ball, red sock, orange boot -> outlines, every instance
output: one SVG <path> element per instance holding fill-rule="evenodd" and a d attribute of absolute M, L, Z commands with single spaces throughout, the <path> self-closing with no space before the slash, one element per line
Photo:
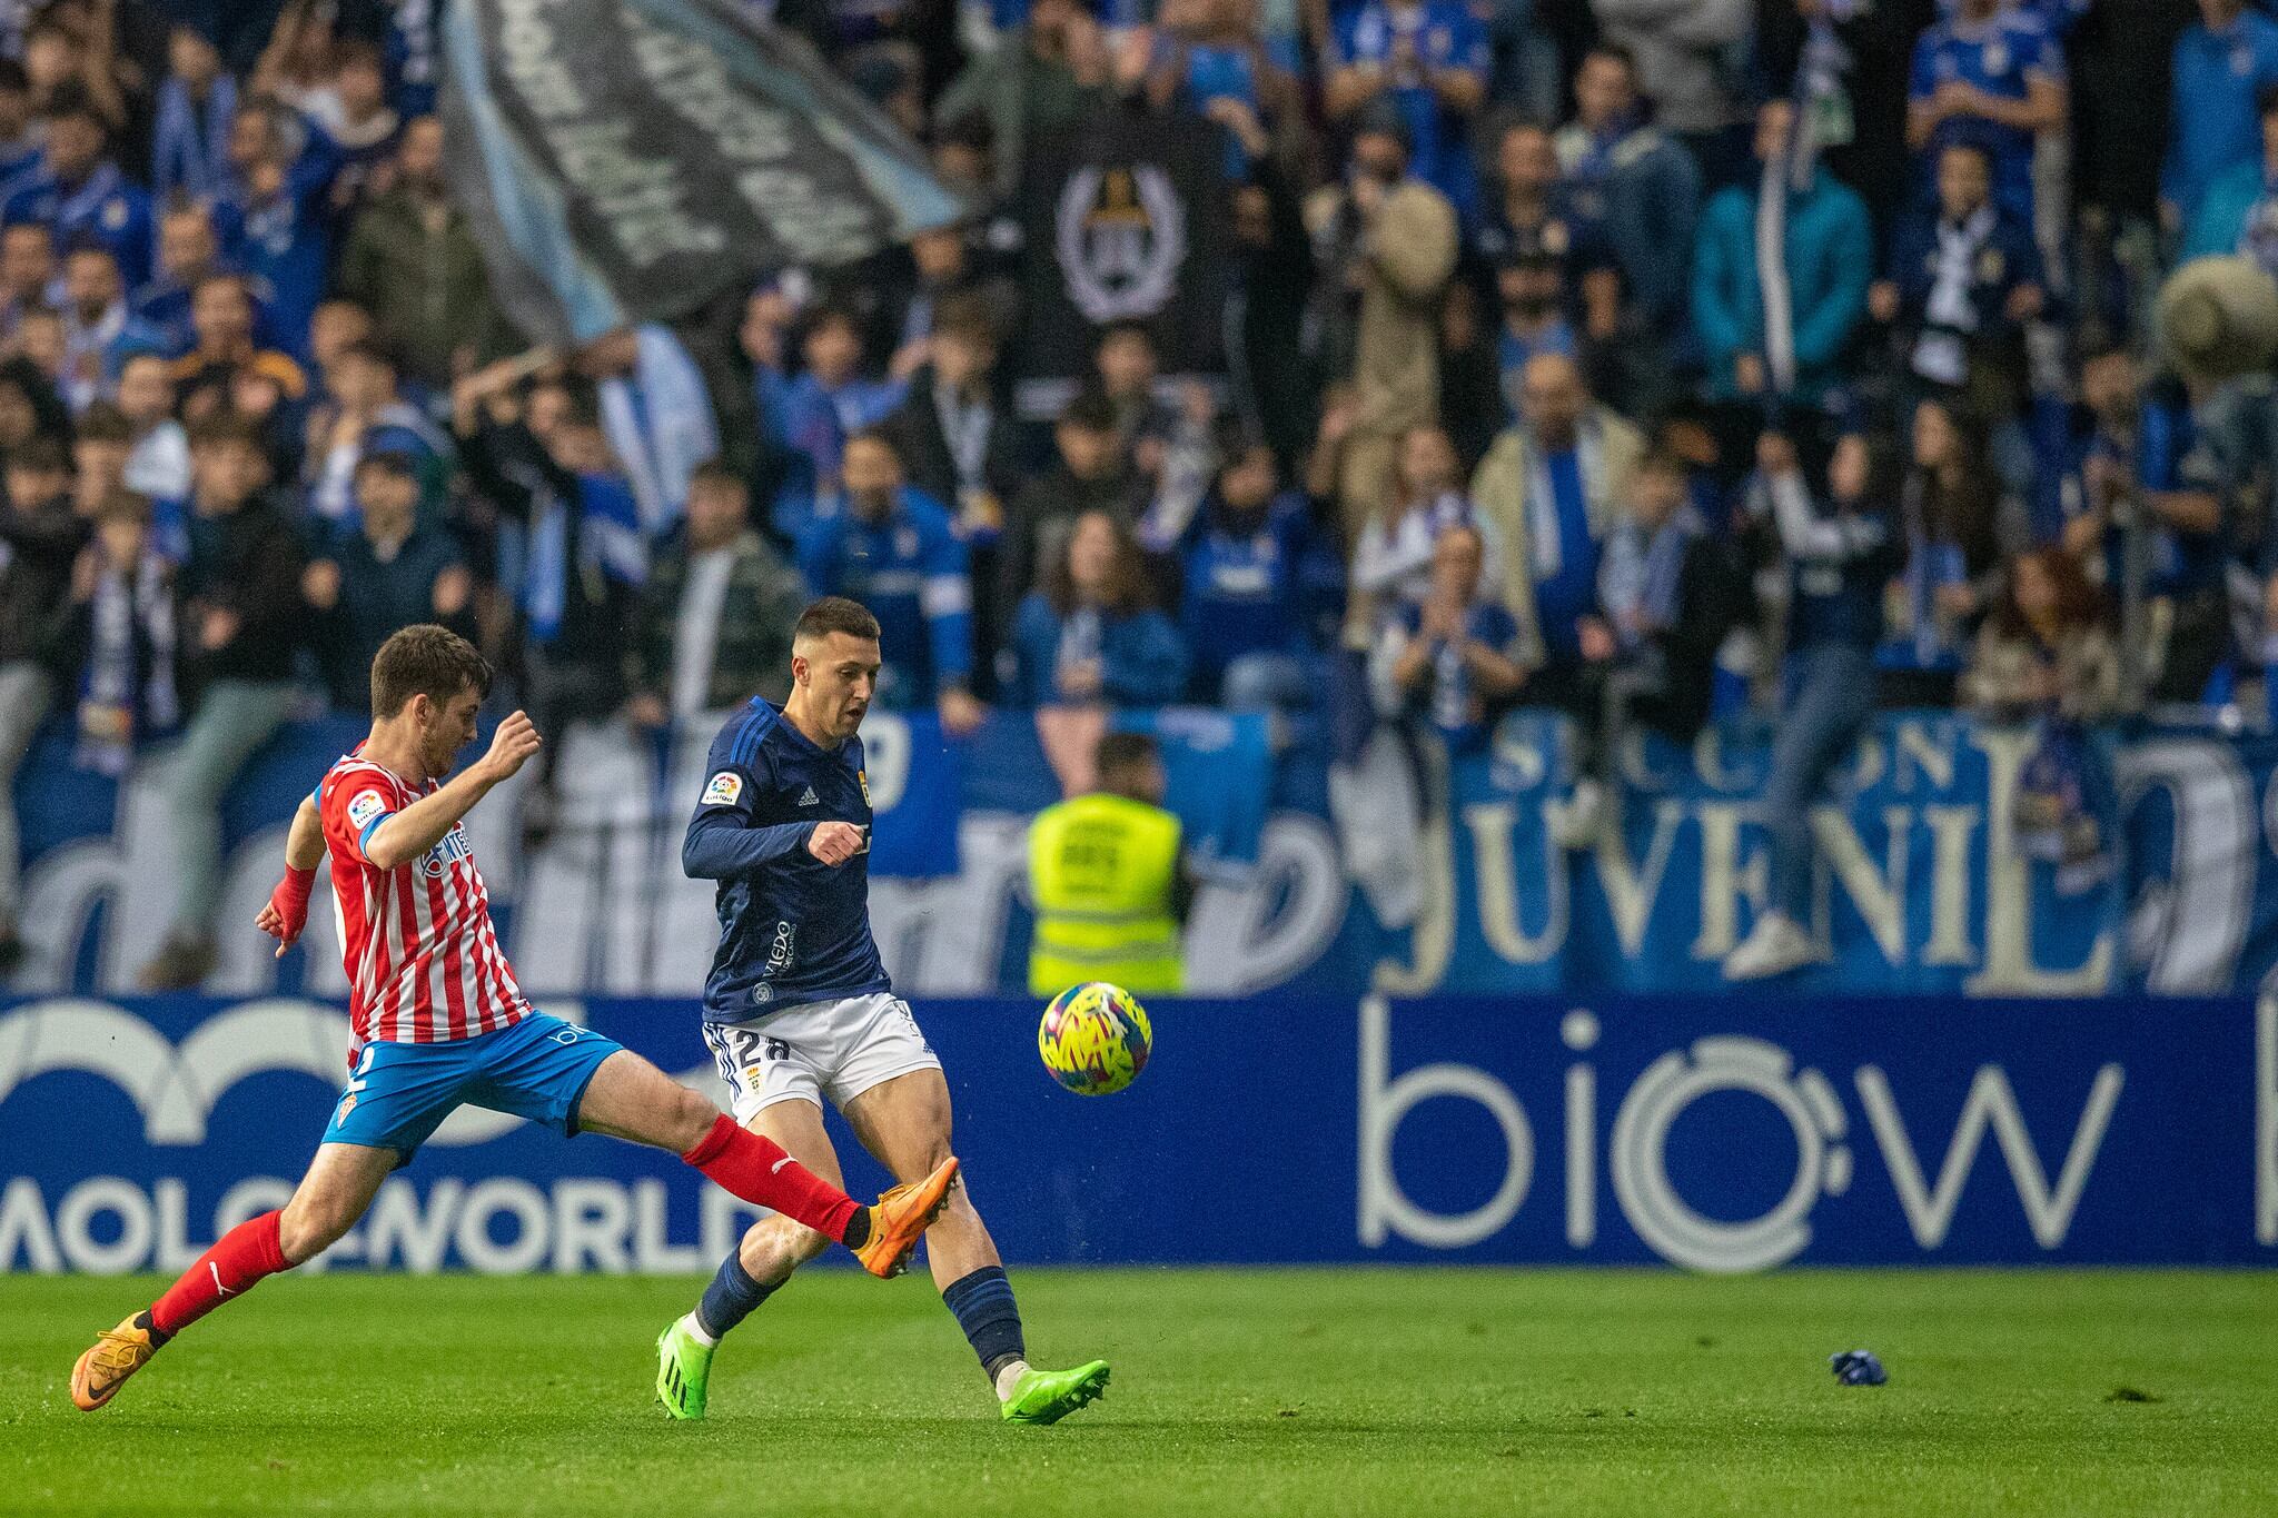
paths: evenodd
<path fill-rule="evenodd" d="M 943 1154 L 920 1181 L 861 1206 L 631 1049 L 617 1049 L 592 1072 L 576 1120 L 595 1133 L 672 1149 L 722 1190 L 845 1245 L 875 1277 L 902 1272 L 957 1179 L 957 1161 Z"/>

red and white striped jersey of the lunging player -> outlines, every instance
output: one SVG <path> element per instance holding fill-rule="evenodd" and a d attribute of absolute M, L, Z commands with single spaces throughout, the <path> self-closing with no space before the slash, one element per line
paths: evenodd
<path fill-rule="evenodd" d="M 364 858 L 374 828 L 435 787 L 408 785 L 355 753 L 317 787 L 358 1047 L 474 1038 L 531 1010 L 490 926 L 490 892 L 465 824 L 394 869 Z"/>

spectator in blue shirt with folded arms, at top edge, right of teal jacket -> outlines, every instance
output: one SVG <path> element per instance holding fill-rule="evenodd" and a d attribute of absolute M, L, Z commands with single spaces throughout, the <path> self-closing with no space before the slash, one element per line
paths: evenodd
<path fill-rule="evenodd" d="M 2025 225 L 2034 137 L 2059 130 L 2066 109 L 2064 50 L 2039 18 L 2000 0 L 1959 0 L 1914 43 L 1907 146 L 1927 152 L 1927 164 L 1948 143 L 1984 148 L 1993 198 Z"/>

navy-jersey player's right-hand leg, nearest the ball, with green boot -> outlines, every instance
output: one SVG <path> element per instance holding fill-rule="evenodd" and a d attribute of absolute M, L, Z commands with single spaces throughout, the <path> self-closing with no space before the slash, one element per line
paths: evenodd
<path fill-rule="evenodd" d="M 893 1076 L 845 1104 L 854 1136 L 895 1174 L 925 1174 L 950 1152 L 950 1083 L 939 1067 Z M 941 1302 L 966 1331 L 966 1343 L 995 1388 L 1005 1422 L 1059 1422 L 1107 1393 L 1107 1361 L 1075 1370 L 1036 1370 L 1027 1363 L 1021 1304 L 989 1227 L 957 1188 L 925 1236 Z"/>

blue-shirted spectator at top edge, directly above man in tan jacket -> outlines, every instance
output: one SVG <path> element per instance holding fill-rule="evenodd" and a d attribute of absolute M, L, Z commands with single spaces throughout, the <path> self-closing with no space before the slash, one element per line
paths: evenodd
<path fill-rule="evenodd" d="M 1408 127 L 1410 173 L 1467 212 L 1476 198 L 1469 118 L 1488 96 L 1488 34 L 1462 0 L 1362 0 L 1330 36 L 1328 114 L 1383 100 Z"/>

